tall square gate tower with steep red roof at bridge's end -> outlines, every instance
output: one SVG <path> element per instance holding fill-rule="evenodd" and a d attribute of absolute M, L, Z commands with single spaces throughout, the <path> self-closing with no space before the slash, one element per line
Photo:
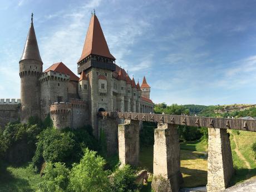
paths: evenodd
<path fill-rule="evenodd" d="M 113 109 L 112 71 L 116 70 L 114 61 L 115 57 L 109 51 L 100 22 L 94 13 L 88 27 L 82 55 L 77 62 L 77 72 L 78 74 L 84 72 L 88 76 L 88 105 L 95 136 L 99 135 L 97 112 Z"/>

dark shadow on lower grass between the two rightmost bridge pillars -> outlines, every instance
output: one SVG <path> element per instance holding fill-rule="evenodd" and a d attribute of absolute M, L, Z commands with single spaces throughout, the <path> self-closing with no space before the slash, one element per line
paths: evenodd
<path fill-rule="evenodd" d="M 207 171 L 198 169 L 188 169 L 181 166 L 183 174 L 182 187 L 194 188 L 196 186 L 205 186 L 207 184 Z"/>

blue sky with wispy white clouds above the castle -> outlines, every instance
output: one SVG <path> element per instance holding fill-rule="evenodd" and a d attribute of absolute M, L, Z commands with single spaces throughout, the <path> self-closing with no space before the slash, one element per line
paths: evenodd
<path fill-rule="evenodd" d="M 0 97 L 19 98 L 18 62 L 34 13 L 43 69 L 77 72 L 96 9 L 116 63 L 167 104 L 256 103 L 256 1 L 1 0 Z"/>

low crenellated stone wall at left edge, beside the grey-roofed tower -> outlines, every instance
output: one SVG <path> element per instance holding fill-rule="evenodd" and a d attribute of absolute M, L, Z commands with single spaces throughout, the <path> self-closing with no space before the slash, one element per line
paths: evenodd
<path fill-rule="evenodd" d="M 10 102 L 12 101 L 12 102 Z M 4 127 L 8 122 L 18 121 L 20 118 L 20 100 L 0 100 L 0 127 Z"/>

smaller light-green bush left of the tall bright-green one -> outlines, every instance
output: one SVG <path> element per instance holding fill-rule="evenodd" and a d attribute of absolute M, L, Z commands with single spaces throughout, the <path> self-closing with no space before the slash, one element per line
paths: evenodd
<path fill-rule="evenodd" d="M 62 192 L 68 186 L 69 170 L 62 163 L 47 163 L 43 170 L 43 181 L 38 184 L 40 192 Z"/>

